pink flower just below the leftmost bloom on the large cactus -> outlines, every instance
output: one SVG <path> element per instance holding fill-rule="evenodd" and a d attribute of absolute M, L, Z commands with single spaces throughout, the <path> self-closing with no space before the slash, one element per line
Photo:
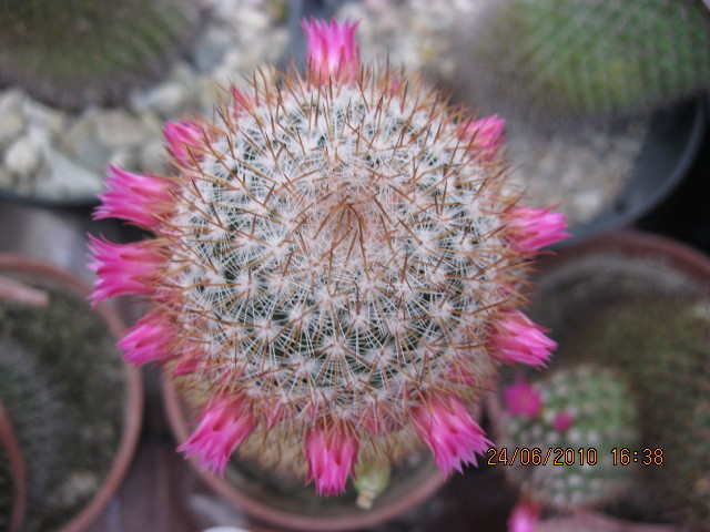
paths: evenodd
<path fill-rule="evenodd" d="M 139 319 L 118 346 L 126 361 L 141 366 L 172 358 L 174 355 L 169 349 L 172 340 L 172 328 L 163 323 L 160 314 L 152 311 Z"/>

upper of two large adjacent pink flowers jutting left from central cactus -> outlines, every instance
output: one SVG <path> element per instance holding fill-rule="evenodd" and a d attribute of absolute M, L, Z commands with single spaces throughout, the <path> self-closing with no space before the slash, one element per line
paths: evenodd
<path fill-rule="evenodd" d="M 103 204 L 93 214 L 94 219 L 123 218 L 151 229 L 168 211 L 171 195 L 165 180 L 133 174 L 109 166 L 108 190 L 99 196 Z"/>

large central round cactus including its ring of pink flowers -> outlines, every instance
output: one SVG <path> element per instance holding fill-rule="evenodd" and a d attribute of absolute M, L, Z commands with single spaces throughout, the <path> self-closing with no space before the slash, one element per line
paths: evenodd
<path fill-rule="evenodd" d="M 205 469 L 241 447 L 337 493 L 425 442 L 460 470 L 489 444 L 469 409 L 496 366 L 554 347 L 518 282 L 564 218 L 518 205 L 496 116 L 362 65 L 356 24 L 304 29 L 306 75 L 165 126 L 174 173 L 111 168 L 95 216 L 156 238 L 92 239 L 93 300 L 152 303 L 120 347 L 202 408 L 181 450 Z"/>

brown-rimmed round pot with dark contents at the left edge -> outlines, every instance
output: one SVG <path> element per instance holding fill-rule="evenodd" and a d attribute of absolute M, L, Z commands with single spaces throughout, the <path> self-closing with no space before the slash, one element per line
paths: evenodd
<path fill-rule="evenodd" d="M 113 344 L 122 319 L 89 308 L 77 277 L 0 254 L 3 401 L 28 471 L 22 530 L 78 532 L 125 475 L 142 418 L 140 375 Z"/>

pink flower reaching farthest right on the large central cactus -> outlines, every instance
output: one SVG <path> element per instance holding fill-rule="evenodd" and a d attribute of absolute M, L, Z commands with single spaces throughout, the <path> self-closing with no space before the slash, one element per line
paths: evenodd
<path fill-rule="evenodd" d="M 520 252 L 537 252 L 569 236 L 565 215 L 550 208 L 514 206 L 508 209 L 509 238 Z"/>

